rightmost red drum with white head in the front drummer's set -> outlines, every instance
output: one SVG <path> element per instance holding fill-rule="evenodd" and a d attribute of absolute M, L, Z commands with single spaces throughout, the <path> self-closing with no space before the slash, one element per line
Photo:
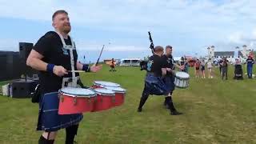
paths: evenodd
<path fill-rule="evenodd" d="M 121 106 L 125 102 L 126 90 L 121 87 L 105 86 L 108 90 L 114 91 L 114 106 Z"/>

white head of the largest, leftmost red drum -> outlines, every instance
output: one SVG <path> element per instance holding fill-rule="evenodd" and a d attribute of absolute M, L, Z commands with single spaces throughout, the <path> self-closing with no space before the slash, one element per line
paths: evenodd
<path fill-rule="evenodd" d="M 95 96 L 96 93 L 90 89 L 82 89 L 82 88 L 75 88 L 75 87 L 64 87 L 61 90 L 64 94 L 70 94 L 77 97 L 85 97 L 85 96 Z"/>

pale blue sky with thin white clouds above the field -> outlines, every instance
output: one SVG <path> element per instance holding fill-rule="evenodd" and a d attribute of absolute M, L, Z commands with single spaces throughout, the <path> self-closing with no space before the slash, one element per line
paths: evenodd
<path fill-rule="evenodd" d="M 97 60 L 103 44 L 102 59 L 149 55 L 149 30 L 155 45 L 174 47 L 174 56 L 206 55 L 212 45 L 256 46 L 255 0 L 0 0 L 0 50 L 37 42 L 53 30 L 51 15 L 60 9 L 70 15 L 71 36 L 86 62 Z"/>

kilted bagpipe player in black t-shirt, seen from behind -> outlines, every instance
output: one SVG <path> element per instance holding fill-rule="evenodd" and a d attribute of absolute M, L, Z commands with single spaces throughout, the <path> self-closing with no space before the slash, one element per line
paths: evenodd
<path fill-rule="evenodd" d="M 148 62 L 141 62 L 142 70 L 146 70 L 145 85 L 142 92 L 142 97 L 138 105 L 138 112 L 142 112 L 142 106 L 146 103 L 147 98 L 150 94 L 165 95 L 165 103 L 170 107 L 170 114 L 178 115 L 182 114 L 175 110 L 173 102 L 171 101 L 171 92 L 174 90 L 173 77 L 166 77 L 166 74 L 173 73 L 170 68 L 170 46 L 166 46 L 168 55 L 163 57 L 164 49 L 162 46 L 155 46 L 154 54 L 149 58 Z M 174 79 L 174 78 L 173 78 Z"/>

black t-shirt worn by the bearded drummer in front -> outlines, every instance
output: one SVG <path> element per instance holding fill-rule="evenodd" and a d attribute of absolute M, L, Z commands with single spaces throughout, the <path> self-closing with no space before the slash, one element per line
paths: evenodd
<path fill-rule="evenodd" d="M 66 45 L 71 45 L 70 37 L 64 39 Z M 62 40 L 54 31 L 47 32 L 34 45 L 33 49 L 39 54 L 42 54 L 43 62 L 54 64 L 55 66 L 63 66 L 66 70 L 71 70 L 70 50 L 62 48 Z M 73 50 L 74 55 L 74 70 L 77 70 L 78 54 Z M 78 76 L 78 73 L 76 73 Z M 72 74 L 66 74 L 64 77 L 72 77 Z M 58 91 L 62 88 L 62 78 L 47 71 L 40 71 L 39 83 L 41 85 L 42 94 Z"/>

